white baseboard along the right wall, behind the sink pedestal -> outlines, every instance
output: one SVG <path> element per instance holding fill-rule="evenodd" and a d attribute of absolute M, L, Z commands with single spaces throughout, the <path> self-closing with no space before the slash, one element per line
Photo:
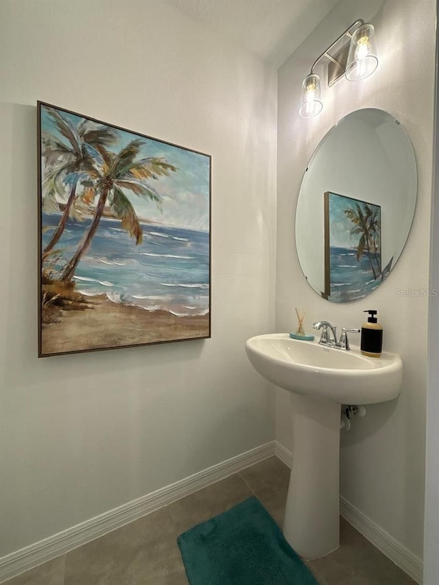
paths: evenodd
<path fill-rule="evenodd" d="M 277 441 L 275 442 L 274 453 L 276 457 L 285 463 L 285 465 L 291 468 L 292 453 Z M 407 575 L 410 575 L 416 583 L 422 584 L 422 559 L 414 555 L 412 551 L 393 538 L 393 536 L 390 536 L 390 534 L 385 532 L 381 526 L 370 520 L 366 514 L 360 512 L 360 510 L 355 508 L 351 502 L 348 502 L 342 496 L 340 496 L 340 514 L 349 524 L 353 525 L 353 527 L 357 529 L 364 538 L 367 538 L 372 542 L 372 545 L 377 547 L 379 551 L 385 554 L 386 557 L 399 566 L 399 568 L 407 573 Z"/>

